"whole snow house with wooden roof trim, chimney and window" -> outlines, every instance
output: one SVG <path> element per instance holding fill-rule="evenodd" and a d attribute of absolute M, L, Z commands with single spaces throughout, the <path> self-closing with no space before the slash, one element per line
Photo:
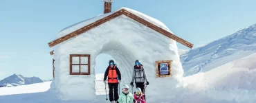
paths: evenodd
<path fill-rule="evenodd" d="M 48 43 L 54 71 L 51 90 L 62 100 L 97 99 L 95 58 L 99 54 L 109 54 L 118 62 L 120 87 L 129 85 L 134 62 L 140 60 L 149 80 L 145 91 L 149 102 L 159 95 L 167 96 L 170 92 L 166 90 L 179 81 L 176 77 L 183 76 L 176 41 L 189 48 L 193 44 L 136 10 L 112 12 L 111 3 L 104 1 L 104 14 L 66 27 Z"/>

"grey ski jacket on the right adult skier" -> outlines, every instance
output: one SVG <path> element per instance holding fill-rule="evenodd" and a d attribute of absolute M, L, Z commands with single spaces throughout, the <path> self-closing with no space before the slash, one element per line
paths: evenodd
<path fill-rule="evenodd" d="M 143 65 L 140 65 L 139 67 L 136 65 L 134 66 L 131 82 L 134 82 L 134 80 L 135 82 L 148 82 L 147 73 L 145 72 Z"/>

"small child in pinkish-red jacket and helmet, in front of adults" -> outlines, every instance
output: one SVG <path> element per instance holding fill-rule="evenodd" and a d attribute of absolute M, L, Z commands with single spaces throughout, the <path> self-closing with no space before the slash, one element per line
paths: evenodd
<path fill-rule="evenodd" d="M 143 96 L 143 92 L 141 92 L 141 89 L 138 87 L 135 90 L 134 93 L 134 103 L 146 103 L 145 98 Z"/>

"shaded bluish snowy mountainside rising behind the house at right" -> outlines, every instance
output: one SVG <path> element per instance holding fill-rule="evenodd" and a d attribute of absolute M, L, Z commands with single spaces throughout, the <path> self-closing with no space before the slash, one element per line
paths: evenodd
<path fill-rule="evenodd" d="M 256 52 L 256 24 L 182 54 L 184 76 L 209 71 Z"/>

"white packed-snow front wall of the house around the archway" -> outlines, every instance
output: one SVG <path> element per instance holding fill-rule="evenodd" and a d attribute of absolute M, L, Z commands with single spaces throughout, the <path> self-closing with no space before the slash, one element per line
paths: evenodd
<path fill-rule="evenodd" d="M 94 19 L 99 18 L 102 18 L 102 16 Z M 147 19 L 151 19 L 155 23 L 159 22 L 152 18 Z M 60 36 L 79 29 L 82 25 L 86 25 L 86 22 L 88 21 L 69 27 L 62 31 Z M 159 22 L 158 24 L 163 23 Z M 149 86 L 147 86 L 145 91 L 148 102 L 157 99 L 159 96 L 167 98 L 170 94 L 170 91 L 167 90 L 176 87 L 176 84 L 179 83 L 180 78 L 183 76 L 176 41 L 163 36 L 163 34 L 149 27 L 145 27 L 145 25 L 125 15 L 118 16 L 79 36 L 64 41 L 56 46 L 54 52 L 55 79 L 51 84 L 51 89 L 54 89 L 62 100 L 97 99 L 95 95 L 94 67 L 95 58 L 99 54 L 109 54 L 118 61 L 118 68 L 122 75 L 120 87 L 123 84 L 129 85 L 134 61 L 140 60 L 145 67 L 149 80 Z M 91 75 L 69 75 L 70 54 L 91 54 Z M 156 78 L 156 60 L 173 60 L 173 76 Z"/>

